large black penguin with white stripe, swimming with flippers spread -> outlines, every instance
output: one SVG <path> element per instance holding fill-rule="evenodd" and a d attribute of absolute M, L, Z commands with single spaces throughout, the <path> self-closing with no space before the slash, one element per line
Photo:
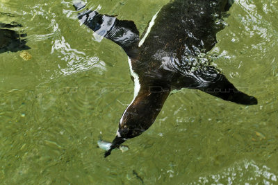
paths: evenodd
<path fill-rule="evenodd" d="M 78 15 L 82 24 L 98 35 L 111 39 L 128 55 L 134 97 L 126 107 L 115 139 L 105 153 L 124 141 L 139 136 L 155 121 L 170 92 L 193 88 L 242 105 L 257 100 L 238 91 L 206 60 L 213 49 L 216 33 L 224 28 L 222 15 L 232 0 L 174 0 L 152 18 L 142 39 L 133 21 L 84 10 Z M 76 10 L 85 8 L 74 3 Z"/>

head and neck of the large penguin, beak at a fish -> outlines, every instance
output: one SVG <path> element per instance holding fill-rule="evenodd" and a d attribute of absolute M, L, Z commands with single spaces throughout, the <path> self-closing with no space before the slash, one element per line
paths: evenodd
<path fill-rule="evenodd" d="M 120 119 L 119 128 L 111 148 L 106 151 L 104 157 L 124 143 L 127 139 L 139 136 L 147 130 L 156 120 L 169 93 L 139 93 L 138 96 L 126 108 Z"/>

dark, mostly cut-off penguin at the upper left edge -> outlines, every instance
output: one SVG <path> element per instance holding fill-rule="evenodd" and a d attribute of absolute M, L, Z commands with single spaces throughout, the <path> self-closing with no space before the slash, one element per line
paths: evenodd
<path fill-rule="evenodd" d="M 19 34 L 17 31 L 10 29 L 16 27 L 22 27 L 22 25 L 16 22 L 10 24 L 0 22 L 0 53 L 31 49 L 26 46 L 26 39 L 22 39 L 27 36 L 26 33 Z"/>

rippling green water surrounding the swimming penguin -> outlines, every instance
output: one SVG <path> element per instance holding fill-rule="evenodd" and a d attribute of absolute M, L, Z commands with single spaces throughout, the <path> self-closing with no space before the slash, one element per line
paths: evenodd
<path fill-rule="evenodd" d="M 140 33 L 168 0 L 90 0 Z M 133 98 L 120 46 L 79 26 L 72 2 L 0 0 L 28 34 L 25 61 L 0 54 L 0 184 L 278 184 L 278 1 L 238 0 L 211 53 L 259 100 L 243 106 L 183 89 L 152 127 L 104 159 Z"/>

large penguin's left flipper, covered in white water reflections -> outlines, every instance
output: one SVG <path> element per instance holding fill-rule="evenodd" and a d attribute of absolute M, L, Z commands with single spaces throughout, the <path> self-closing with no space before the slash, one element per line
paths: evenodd
<path fill-rule="evenodd" d="M 74 3 L 76 10 L 81 10 L 84 7 L 82 3 Z M 130 58 L 136 58 L 139 31 L 133 21 L 122 21 L 115 16 L 101 15 L 99 12 L 92 10 L 80 12 L 78 19 L 97 35 L 111 39 L 121 46 Z"/>

